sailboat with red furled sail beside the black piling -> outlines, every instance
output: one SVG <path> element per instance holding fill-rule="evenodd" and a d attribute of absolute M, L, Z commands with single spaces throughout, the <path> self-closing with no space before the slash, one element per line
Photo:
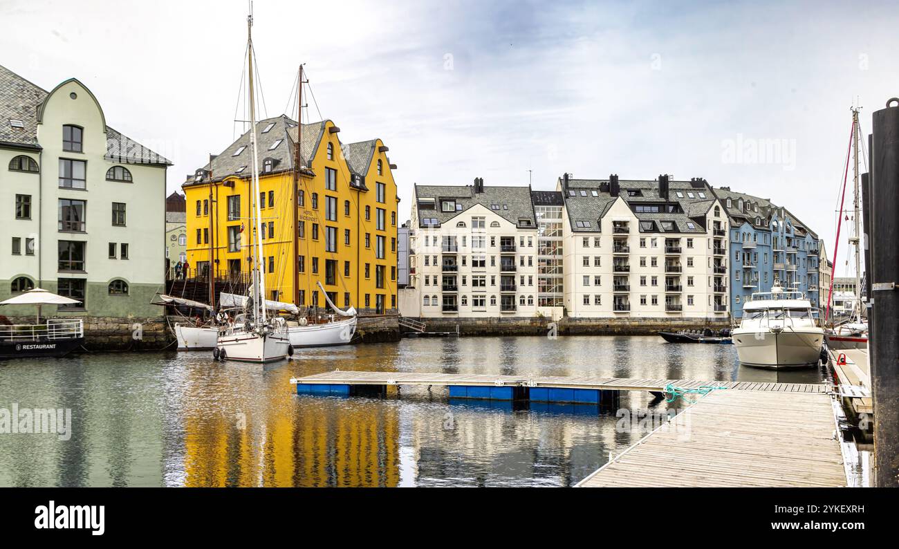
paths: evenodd
<path fill-rule="evenodd" d="M 852 147 L 852 158 L 854 167 L 853 182 L 853 228 L 854 233 L 849 238 L 849 243 L 855 249 L 855 301 L 852 306 L 852 314 L 848 322 L 831 326 L 827 332 L 828 346 L 833 350 L 845 349 L 868 349 L 868 322 L 862 318 L 862 301 L 861 301 L 861 251 L 859 250 L 859 235 L 861 233 L 859 217 L 861 215 L 859 208 L 859 109 L 852 109 L 852 134 L 850 146 Z M 849 159 L 847 158 L 847 162 Z M 846 186 L 843 184 L 843 195 L 845 195 Z M 841 199 L 842 200 L 842 199 Z M 840 217 L 837 225 L 837 242 L 833 248 L 833 266 L 837 264 L 837 249 L 840 246 L 840 226 L 842 225 L 843 208 L 840 204 Z M 831 288 L 827 298 L 827 312 L 830 311 L 833 294 L 833 277 L 831 277 Z M 829 315 L 825 314 L 825 319 Z"/>

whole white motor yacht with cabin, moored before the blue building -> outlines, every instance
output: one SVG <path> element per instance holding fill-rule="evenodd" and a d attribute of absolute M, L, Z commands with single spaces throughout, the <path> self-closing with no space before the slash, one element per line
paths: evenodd
<path fill-rule="evenodd" d="M 731 337 L 745 366 L 804 367 L 821 358 L 824 330 L 814 322 L 811 301 L 775 284 L 770 292 L 752 294 Z"/>

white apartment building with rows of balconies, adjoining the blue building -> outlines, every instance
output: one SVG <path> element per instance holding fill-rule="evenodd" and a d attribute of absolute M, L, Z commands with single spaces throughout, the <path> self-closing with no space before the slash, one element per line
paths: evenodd
<path fill-rule="evenodd" d="M 575 180 L 565 199 L 565 312 L 727 319 L 727 217 L 704 180 Z"/>

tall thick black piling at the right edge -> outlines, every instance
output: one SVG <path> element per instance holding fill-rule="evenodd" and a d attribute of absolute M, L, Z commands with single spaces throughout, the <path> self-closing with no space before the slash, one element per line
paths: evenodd
<path fill-rule="evenodd" d="M 899 99 L 874 112 L 870 226 L 874 322 L 870 336 L 874 396 L 874 483 L 899 487 Z"/>

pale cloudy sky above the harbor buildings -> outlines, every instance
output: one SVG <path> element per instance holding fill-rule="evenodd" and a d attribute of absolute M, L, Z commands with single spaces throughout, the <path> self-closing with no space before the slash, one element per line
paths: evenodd
<path fill-rule="evenodd" d="M 242 131 L 247 5 L 0 0 L 0 65 L 48 90 L 78 78 L 174 162 L 176 190 Z M 877 1 L 255 0 L 253 33 L 263 115 L 295 111 L 304 63 L 304 120 L 390 147 L 401 219 L 414 183 L 669 173 L 771 199 L 832 254 L 850 107 L 867 136 L 899 95 L 896 28 Z"/>

